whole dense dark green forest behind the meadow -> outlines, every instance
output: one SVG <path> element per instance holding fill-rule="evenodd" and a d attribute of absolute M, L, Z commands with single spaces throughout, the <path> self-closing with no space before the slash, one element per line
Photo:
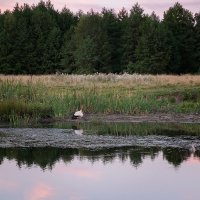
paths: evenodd
<path fill-rule="evenodd" d="M 50 1 L 0 12 L 0 73 L 200 72 L 200 12 L 175 3 L 163 19 L 137 3 L 73 13 Z"/>

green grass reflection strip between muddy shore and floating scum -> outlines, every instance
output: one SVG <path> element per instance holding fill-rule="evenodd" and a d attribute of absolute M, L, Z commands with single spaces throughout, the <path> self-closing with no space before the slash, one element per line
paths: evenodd
<path fill-rule="evenodd" d="M 55 123 L 49 125 L 54 128 L 84 130 L 86 134 L 98 135 L 200 135 L 200 124 L 184 123 L 102 123 L 75 122 Z"/>

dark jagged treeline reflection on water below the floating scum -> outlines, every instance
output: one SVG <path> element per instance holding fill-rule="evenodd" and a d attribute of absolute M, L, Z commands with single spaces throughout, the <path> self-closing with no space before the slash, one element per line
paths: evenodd
<path fill-rule="evenodd" d="M 79 160 L 87 159 L 90 162 L 101 161 L 104 164 L 119 159 L 122 162 L 130 160 L 134 167 L 138 167 L 147 158 L 154 160 L 161 151 L 157 147 L 124 147 L 112 149 L 60 149 L 60 148 L 0 148 L 0 164 L 3 159 L 16 160 L 17 165 L 38 165 L 42 169 L 52 169 L 57 161 L 62 159 L 65 163 L 71 162 L 75 157 Z M 164 148 L 163 158 L 175 167 L 187 160 L 191 153 L 189 150 L 180 148 Z M 200 152 L 194 154 L 200 157 Z"/>

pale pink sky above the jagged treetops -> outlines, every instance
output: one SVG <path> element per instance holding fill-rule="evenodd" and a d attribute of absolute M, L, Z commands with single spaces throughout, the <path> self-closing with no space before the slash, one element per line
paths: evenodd
<path fill-rule="evenodd" d="M 19 5 L 24 3 L 32 5 L 37 4 L 39 0 L 0 0 L 1 11 L 12 10 L 16 2 Z M 144 9 L 145 13 L 150 14 L 155 11 L 162 18 L 163 12 L 173 6 L 177 0 L 51 0 L 55 9 L 61 10 L 66 5 L 73 12 L 77 12 L 80 9 L 87 12 L 91 8 L 95 11 L 101 11 L 103 7 L 114 8 L 116 12 L 122 7 L 130 10 L 136 2 Z M 193 14 L 200 12 L 200 0 L 179 0 L 178 2 Z"/>

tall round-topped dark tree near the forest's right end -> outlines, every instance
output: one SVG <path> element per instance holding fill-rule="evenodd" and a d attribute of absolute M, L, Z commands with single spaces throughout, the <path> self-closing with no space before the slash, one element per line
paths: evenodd
<path fill-rule="evenodd" d="M 176 3 L 164 13 L 163 23 L 173 35 L 172 59 L 169 65 L 172 73 L 195 72 L 194 65 L 194 18 L 190 11 L 184 9 L 180 3 Z"/>

